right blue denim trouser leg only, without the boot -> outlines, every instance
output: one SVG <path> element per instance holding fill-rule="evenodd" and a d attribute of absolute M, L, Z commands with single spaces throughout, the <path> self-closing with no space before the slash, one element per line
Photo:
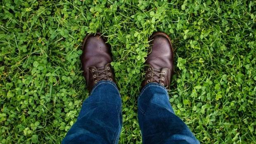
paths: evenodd
<path fill-rule="evenodd" d="M 175 115 L 165 87 L 147 84 L 138 98 L 143 144 L 199 144 L 187 125 Z"/>

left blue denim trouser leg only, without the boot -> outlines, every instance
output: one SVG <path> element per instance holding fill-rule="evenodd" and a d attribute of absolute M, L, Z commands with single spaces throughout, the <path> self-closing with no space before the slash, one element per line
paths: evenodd
<path fill-rule="evenodd" d="M 122 103 L 115 83 L 100 81 L 83 102 L 76 123 L 62 144 L 118 144 Z"/>

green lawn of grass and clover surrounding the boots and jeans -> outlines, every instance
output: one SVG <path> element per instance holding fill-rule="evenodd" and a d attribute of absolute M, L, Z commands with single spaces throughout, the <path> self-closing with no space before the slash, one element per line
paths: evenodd
<path fill-rule="evenodd" d="M 137 120 L 148 37 L 175 50 L 170 103 L 199 141 L 256 144 L 255 0 L 0 0 L 0 144 L 60 143 L 88 97 L 81 44 L 101 32 L 123 102 L 121 144 Z"/>

